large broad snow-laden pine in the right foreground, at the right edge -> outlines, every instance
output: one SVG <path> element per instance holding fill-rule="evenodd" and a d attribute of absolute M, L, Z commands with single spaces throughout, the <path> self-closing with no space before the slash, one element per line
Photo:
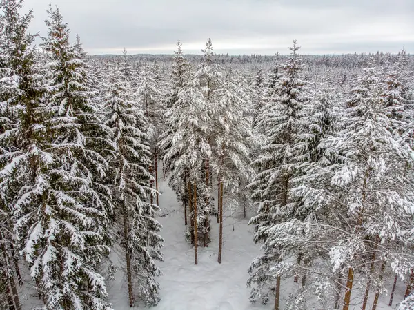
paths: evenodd
<path fill-rule="evenodd" d="M 344 310 L 356 281 L 365 287 L 362 307 L 375 288 L 375 309 L 386 268 L 404 276 L 411 266 L 409 250 L 401 246 L 409 243 L 406 233 L 412 226 L 411 150 L 391 129 L 384 86 L 373 60 L 368 65 L 347 103 L 341 130 L 322 139 L 319 167 L 308 170 L 297 189 L 305 206 L 317 213 L 317 233 L 308 234 L 306 251 L 315 251 L 317 241 L 323 249 L 319 256 L 331 260 L 333 273 L 323 271 L 326 279 L 341 287 L 345 276 Z M 339 306 L 340 298 L 335 299 Z"/>

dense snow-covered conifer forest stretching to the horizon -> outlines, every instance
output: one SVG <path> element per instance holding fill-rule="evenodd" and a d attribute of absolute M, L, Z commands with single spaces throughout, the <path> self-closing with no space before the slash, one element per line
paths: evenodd
<path fill-rule="evenodd" d="M 196 265 L 212 222 L 221 264 L 223 213 L 253 215 L 261 254 L 242 268 L 255 305 L 380 310 L 386 294 L 414 309 L 404 50 L 301 56 L 293 41 L 286 55 L 232 56 L 208 39 L 201 56 L 180 41 L 173 56 L 89 56 L 58 8 L 35 46 L 23 0 L 0 6 L 0 309 L 116 310 L 119 271 L 130 307 L 156 306 L 166 175 Z"/>

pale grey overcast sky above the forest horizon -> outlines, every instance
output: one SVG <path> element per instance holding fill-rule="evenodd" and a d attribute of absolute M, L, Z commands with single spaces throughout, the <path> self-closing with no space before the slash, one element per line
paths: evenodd
<path fill-rule="evenodd" d="M 414 52 L 414 0 L 26 0 L 31 31 L 46 35 L 48 3 L 90 54 L 166 53 L 181 39 L 200 53 L 302 54 Z"/>

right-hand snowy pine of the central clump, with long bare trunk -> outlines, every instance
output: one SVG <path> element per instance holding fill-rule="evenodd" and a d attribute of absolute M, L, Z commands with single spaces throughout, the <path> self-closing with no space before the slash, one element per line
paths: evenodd
<path fill-rule="evenodd" d="M 215 115 L 215 155 L 211 166 L 219 180 L 219 252 L 221 263 L 223 246 L 223 200 L 239 204 L 239 193 L 244 192 L 253 170 L 249 166 L 249 144 L 252 133 L 249 114 L 249 102 L 246 94 L 233 79 L 226 77 L 217 88 L 219 102 Z M 217 153 L 216 153 L 217 152 Z"/>

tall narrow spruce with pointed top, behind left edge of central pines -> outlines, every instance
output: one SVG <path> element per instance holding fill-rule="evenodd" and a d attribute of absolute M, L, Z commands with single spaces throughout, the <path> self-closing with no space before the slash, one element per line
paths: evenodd
<path fill-rule="evenodd" d="M 178 102 L 178 94 L 181 89 L 187 83 L 189 78 L 189 71 L 190 65 L 188 61 L 184 58 L 182 49 L 181 49 L 181 42 L 177 42 L 177 51 L 175 51 L 174 60 L 172 62 L 172 70 L 170 73 L 170 84 L 168 86 L 168 96 L 166 97 L 166 104 L 165 108 L 166 111 L 164 113 L 164 123 L 165 123 L 165 130 L 164 133 L 161 133 L 159 139 L 159 150 L 162 155 L 165 155 L 166 151 L 172 146 L 172 138 L 174 137 L 174 130 L 177 129 L 175 122 L 174 115 L 172 115 L 172 111 L 177 107 Z M 165 162 L 163 159 L 163 166 L 172 171 L 172 166 L 170 166 L 172 162 Z M 187 190 L 187 182 L 186 182 L 186 174 L 184 175 L 172 175 L 170 177 L 169 185 L 175 191 L 179 202 L 184 204 L 184 224 L 188 224 L 188 215 L 187 215 L 187 207 L 188 207 L 188 190 Z"/>

